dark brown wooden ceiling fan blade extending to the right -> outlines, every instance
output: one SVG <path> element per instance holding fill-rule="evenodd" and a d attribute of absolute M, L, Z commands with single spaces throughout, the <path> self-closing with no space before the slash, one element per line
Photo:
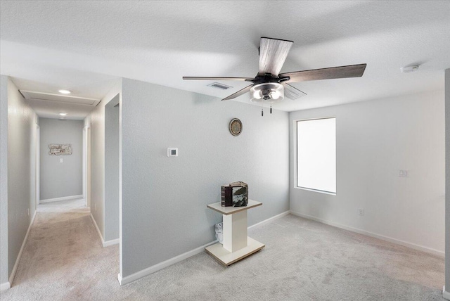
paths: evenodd
<path fill-rule="evenodd" d="M 290 77 L 286 82 L 306 82 L 309 80 L 361 77 L 366 69 L 366 64 L 304 70 L 281 73 L 280 77 Z"/>

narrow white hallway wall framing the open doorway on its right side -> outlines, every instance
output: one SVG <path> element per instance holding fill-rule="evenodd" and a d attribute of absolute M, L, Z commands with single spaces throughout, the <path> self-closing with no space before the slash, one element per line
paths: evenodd
<path fill-rule="evenodd" d="M 116 218 L 105 216 L 105 105 L 120 94 L 121 89 L 122 79 L 117 80 L 113 89 L 84 120 L 84 126 L 90 127 L 91 132 L 91 214 L 103 241 L 105 237 L 110 237 L 110 231 L 114 231 L 105 229 L 105 218 Z M 119 237 L 115 237 L 117 238 Z"/>

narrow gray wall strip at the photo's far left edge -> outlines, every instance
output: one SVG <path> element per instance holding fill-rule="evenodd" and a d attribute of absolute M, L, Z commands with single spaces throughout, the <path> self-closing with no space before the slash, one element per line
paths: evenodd
<path fill-rule="evenodd" d="M 8 282 L 8 77 L 0 75 L 0 284 Z"/>

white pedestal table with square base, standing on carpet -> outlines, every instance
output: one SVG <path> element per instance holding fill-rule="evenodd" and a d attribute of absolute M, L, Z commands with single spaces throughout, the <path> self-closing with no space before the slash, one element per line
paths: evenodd
<path fill-rule="evenodd" d="M 208 208 L 224 214 L 224 245 L 216 243 L 205 248 L 221 264 L 228 266 L 252 255 L 266 245 L 247 236 L 247 210 L 262 203 L 248 200 L 246 207 L 222 207 L 221 203 L 207 205 Z"/>

